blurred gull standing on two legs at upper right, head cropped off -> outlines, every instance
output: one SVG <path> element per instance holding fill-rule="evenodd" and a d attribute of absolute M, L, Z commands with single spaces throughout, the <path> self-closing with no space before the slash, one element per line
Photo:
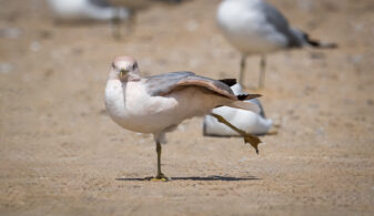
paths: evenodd
<path fill-rule="evenodd" d="M 282 13 L 263 0 L 223 0 L 216 20 L 224 37 L 242 54 L 239 75 L 242 85 L 247 55 L 261 55 L 259 88 L 263 88 L 265 54 L 292 48 L 336 47 L 311 40 L 305 32 L 289 25 Z"/>

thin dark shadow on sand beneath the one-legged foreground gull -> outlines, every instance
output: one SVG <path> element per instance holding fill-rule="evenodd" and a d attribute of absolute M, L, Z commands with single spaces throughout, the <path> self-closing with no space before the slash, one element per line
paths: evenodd
<path fill-rule="evenodd" d="M 119 177 L 117 181 L 124 182 L 148 182 L 151 181 L 152 177 Z M 232 177 L 232 176 L 220 176 L 220 175 L 210 175 L 206 177 L 200 176 L 188 176 L 188 177 L 170 177 L 169 181 L 221 181 L 221 182 L 241 182 L 241 181 L 260 181 L 262 178 L 255 176 L 245 176 L 245 177 Z"/>

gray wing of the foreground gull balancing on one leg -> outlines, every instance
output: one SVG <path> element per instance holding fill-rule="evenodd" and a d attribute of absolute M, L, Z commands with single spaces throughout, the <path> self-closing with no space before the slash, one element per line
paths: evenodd
<path fill-rule="evenodd" d="M 174 90 L 185 86 L 201 86 L 222 96 L 237 100 L 229 85 L 218 80 L 195 75 L 192 72 L 181 71 L 145 78 L 145 88 L 152 96 L 166 95 Z"/>

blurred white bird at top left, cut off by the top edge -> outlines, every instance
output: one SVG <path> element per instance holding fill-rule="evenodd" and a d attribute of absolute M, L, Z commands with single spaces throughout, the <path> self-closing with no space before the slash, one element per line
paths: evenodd
<path fill-rule="evenodd" d="M 125 7 L 114 7 L 107 0 L 48 0 L 59 21 L 110 21 L 113 37 L 120 38 L 120 23 L 131 21 L 131 11 Z"/>

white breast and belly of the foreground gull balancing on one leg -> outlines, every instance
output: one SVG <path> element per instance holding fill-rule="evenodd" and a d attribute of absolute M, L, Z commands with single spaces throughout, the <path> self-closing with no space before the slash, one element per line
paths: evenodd
<path fill-rule="evenodd" d="M 110 116 L 127 130 L 160 133 L 183 120 L 208 114 L 228 99 L 206 94 L 199 88 L 185 88 L 166 96 L 152 96 L 143 81 L 121 83 L 109 80 L 105 105 Z"/>

